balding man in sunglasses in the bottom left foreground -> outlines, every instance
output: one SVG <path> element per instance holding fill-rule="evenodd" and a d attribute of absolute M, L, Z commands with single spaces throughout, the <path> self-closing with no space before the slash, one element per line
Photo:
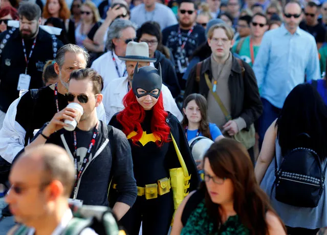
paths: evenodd
<path fill-rule="evenodd" d="M 67 227 L 73 218 L 68 198 L 75 168 L 64 149 L 46 144 L 25 151 L 13 164 L 9 180 L 12 187 L 6 202 L 15 220 L 24 225 L 8 234 L 60 234 Z M 81 234 L 97 233 L 86 228 Z"/>

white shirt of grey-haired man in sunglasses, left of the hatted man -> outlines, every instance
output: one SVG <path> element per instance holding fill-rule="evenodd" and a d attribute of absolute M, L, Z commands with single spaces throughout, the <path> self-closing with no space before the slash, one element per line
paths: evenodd
<path fill-rule="evenodd" d="M 113 55 L 115 61 L 113 60 Z M 117 68 L 116 69 L 116 63 Z M 127 75 L 125 61 L 119 60 L 115 50 L 108 51 L 97 58 L 91 65 L 103 78 L 103 89 L 114 79 Z"/>

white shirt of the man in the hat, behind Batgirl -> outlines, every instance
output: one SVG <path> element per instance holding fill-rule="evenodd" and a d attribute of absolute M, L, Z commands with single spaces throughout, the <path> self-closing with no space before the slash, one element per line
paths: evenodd
<path fill-rule="evenodd" d="M 124 109 L 122 103 L 123 97 L 128 92 L 128 78 L 119 77 L 113 80 L 105 89 L 102 90 L 103 94 L 103 106 L 105 111 L 106 120 L 110 122 L 113 115 Z M 173 99 L 170 90 L 164 84 L 162 84 L 161 92 L 163 96 L 163 105 L 166 111 L 171 112 L 176 118 L 181 122 L 183 120 L 183 115 L 178 109 L 175 100 Z"/>

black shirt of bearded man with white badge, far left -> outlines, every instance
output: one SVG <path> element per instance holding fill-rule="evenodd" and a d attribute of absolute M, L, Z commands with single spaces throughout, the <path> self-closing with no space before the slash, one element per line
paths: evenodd
<path fill-rule="evenodd" d="M 8 30 L 0 34 L 0 42 L 8 35 Z M 33 41 L 32 41 L 33 42 Z M 32 45 L 25 42 L 27 56 Z M 56 40 L 56 49 L 62 47 L 62 42 Z M 52 36 L 46 31 L 39 29 L 36 43 L 28 63 L 27 74 L 31 76 L 29 89 L 43 87 L 42 72 L 48 60 L 54 59 Z M 17 90 L 19 74 L 25 74 L 26 61 L 23 52 L 23 44 L 19 30 L 16 29 L 7 44 L 2 49 L 0 57 L 0 110 L 7 112 L 10 104 L 18 98 Z"/>

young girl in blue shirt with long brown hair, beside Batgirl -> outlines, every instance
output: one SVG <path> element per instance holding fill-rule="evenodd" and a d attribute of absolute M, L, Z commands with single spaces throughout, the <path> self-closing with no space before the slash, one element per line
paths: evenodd
<path fill-rule="evenodd" d="M 216 124 L 209 123 L 207 119 L 207 101 L 201 94 L 190 94 L 183 105 L 184 119 L 182 126 L 185 129 L 187 141 L 205 136 L 213 141 L 224 138 Z"/>

